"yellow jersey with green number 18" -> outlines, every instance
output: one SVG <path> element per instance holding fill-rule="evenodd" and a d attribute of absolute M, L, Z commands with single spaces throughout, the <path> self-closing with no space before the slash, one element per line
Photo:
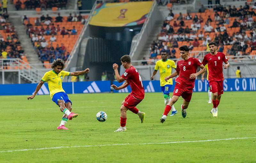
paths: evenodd
<path fill-rule="evenodd" d="M 159 69 L 160 73 L 160 86 L 165 86 L 167 84 L 172 85 L 172 78 L 165 82 L 164 78 L 172 74 L 172 68 L 176 69 L 175 62 L 173 60 L 167 59 L 165 62 L 161 59 L 156 61 L 155 70 Z"/>

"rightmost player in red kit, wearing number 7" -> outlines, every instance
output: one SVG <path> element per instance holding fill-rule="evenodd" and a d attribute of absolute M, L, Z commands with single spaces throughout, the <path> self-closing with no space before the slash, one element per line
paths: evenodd
<path fill-rule="evenodd" d="M 223 94 L 223 68 L 227 69 L 229 67 L 228 58 L 224 53 L 217 51 L 217 43 L 209 43 L 210 53 L 204 56 L 203 65 L 208 64 L 209 70 L 209 85 L 210 91 L 212 92 L 212 104 L 213 108 L 211 110 L 212 116 L 218 116 L 218 105 L 220 104 L 220 97 Z M 225 65 L 222 65 L 222 63 Z"/>

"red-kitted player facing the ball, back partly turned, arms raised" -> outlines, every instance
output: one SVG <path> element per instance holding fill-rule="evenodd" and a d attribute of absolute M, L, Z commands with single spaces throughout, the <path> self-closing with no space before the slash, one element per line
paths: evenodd
<path fill-rule="evenodd" d="M 117 64 L 113 64 L 113 69 L 115 71 L 116 80 L 118 82 L 124 82 L 124 81 L 125 82 L 120 87 L 117 87 L 116 85 L 111 85 L 111 87 L 113 87 L 116 90 L 119 90 L 119 89 L 126 88 L 130 84 L 132 88 L 132 92 L 122 102 L 122 106 L 120 108 L 121 127 L 114 132 L 126 131 L 125 124 L 126 124 L 126 118 L 127 118 L 127 114 L 126 114 L 127 110 L 132 111 L 132 113 L 138 114 L 141 120 L 141 123 L 143 123 L 146 115 L 145 113 L 140 112 L 136 108 L 136 106 L 143 100 L 145 95 L 140 74 L 138 73 L 136 68 L 132 66 L 131 58 L 129 55 L 124 55 L 123 57 L 121 57 L 121 63 L 125 68 L 125 73 L 122 76 L 120 76 L 118 73 Z"/>

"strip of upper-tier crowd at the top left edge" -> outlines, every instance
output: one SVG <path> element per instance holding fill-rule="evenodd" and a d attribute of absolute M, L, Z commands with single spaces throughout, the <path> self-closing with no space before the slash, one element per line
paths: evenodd
<path fill-rule="evenodd" d="M 67 0 L 14 0 L 16 10 L 20 9 L 51 9 L 52 7 L 64 8 L 67 5 Z"/>

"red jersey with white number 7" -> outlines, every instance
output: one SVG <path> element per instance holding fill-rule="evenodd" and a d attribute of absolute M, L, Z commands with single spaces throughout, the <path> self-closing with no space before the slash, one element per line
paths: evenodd
<path fill-rule="evenodd" d="M 208 53 L 204 56 L 203 65 L 208 64 L 208 81 L 222 81 L 223 77 L 223 62 L 227 62 L 228 58 L 222 52 L 217 52 L 216 55 Z"/>

